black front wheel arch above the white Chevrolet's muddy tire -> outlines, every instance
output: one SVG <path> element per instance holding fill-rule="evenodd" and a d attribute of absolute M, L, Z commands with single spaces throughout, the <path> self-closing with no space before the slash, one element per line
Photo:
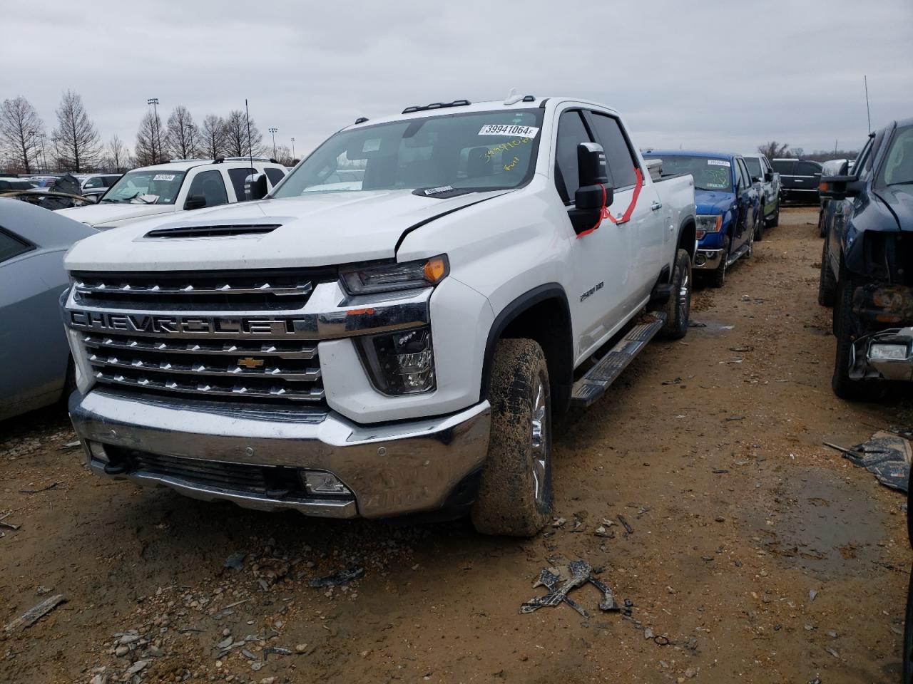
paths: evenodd
<path fill-rule="evenodd" d="M 534 287 L 519 295 L 495 317 L 485 345 L 479 389 L 481 399 L 488 399 L 488 383 L 498 340 L 510 337 L 528 337 L 542 347 L 549 368 L 552 410 L 563 413 L 571 404 L 573 385 L 571 307 L 564 288 L 558 283 Z"/>

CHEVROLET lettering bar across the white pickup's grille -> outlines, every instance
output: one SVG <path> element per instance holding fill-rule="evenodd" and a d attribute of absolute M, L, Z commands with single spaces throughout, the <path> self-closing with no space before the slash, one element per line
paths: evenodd
<path fill-rule="evenodd" d="M 307 329 L 308 322 L 292 318 L 237 316 L 155 316 L 113 314 L 97 311 L 68 311 L 73 327 L 159 335 L 294 335 Z"/>

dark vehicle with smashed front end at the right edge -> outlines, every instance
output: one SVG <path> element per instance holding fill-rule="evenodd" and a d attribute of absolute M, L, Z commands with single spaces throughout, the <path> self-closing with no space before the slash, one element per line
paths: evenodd
<path fill-rule="evenodd" d="M 913 119 L 866 142 L 852 175 L 824 176 L 818 301 L 834 306 L 834 393 L 874 399 L 913 380 Z"/>

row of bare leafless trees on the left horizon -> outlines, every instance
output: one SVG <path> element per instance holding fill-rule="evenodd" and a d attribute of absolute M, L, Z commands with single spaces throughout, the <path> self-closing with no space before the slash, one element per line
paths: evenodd
<path fill-rule="evenodd" d="M 79 93 L 63 93 L 55 114 L 57 126 L 48 136 L 45 122 L 26 98 L 5 99 L 0 104 L 0 169 L 123 172 L 171 159 L 257 157 L 272 152 L 253 119 L 248 138 L 247 118 L 240 109 L 226 117 L 207 114 L 200 124 L 184 105 L 175 107 L 164 124 L 151 109 L 140 120 L 132 150 L 117 134 L 102 142 Z M 287 166 L 294 163 L 285 145 L 277 146 L 276 157 Z"/>

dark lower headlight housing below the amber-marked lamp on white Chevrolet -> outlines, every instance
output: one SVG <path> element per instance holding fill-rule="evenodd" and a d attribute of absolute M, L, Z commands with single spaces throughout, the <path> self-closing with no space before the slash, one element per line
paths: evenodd
<path fill-rule="evenodd" d="M 430 328 L 359 337 L 356 344 L 374 388 L 383 394 L 418 394 L 436 388 Z"/>

